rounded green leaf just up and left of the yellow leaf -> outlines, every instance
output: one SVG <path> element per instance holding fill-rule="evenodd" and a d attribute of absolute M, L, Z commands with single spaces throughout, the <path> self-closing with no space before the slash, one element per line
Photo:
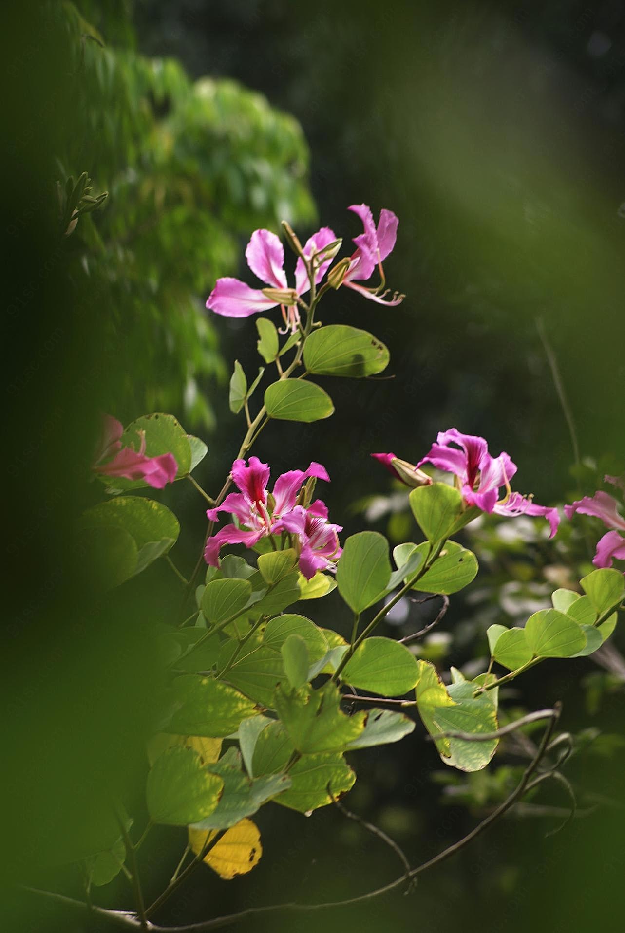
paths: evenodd
<path fill-rule="evenodd" d="M 224 782 L 206 770 L 197 752 L 168 748 L 147 775 L 147 811 L 155 823 L 187 826 L 212 814 Z"/>

